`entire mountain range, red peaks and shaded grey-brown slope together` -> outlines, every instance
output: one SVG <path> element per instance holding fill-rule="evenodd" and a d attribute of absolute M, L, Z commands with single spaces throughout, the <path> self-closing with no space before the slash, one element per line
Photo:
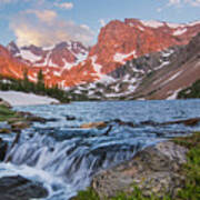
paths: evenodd
<path fill-rule="evenodd" d="M 176 99 L 200 74 L 200 21 L 174 24 L 126 19 L 104 26 L 93 47 L 0 46 L 3 78 L 58 86 L 79 100 Z"/>

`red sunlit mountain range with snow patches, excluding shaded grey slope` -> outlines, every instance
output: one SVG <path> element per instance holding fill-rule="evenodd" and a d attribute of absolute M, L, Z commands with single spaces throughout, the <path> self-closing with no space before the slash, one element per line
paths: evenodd
<path fill-rule="evenodd" d="M 199 31 L 200 21 L 174 24 L 138 19 L 114 20 L 101 29 L 97 44 L 91 48 L 74 41 L 48 48 L 36 46 L 19 48 L 11 42 L 7 48 L 1 47 L 7 54 L 6 58 L 10 59 L 4 61 L 4 56 L 0 53 L 0 64 L 3 68 L 8 64 L 14 74 L 11 70 L 3 69 L 3 71 L 14 78 L 17 73 L 18 78 L 21 78 L 23 68 L 28 69 L 29 79 L 32 81 L 37 80 L 37 73 L 42 69 L 46 84 L 49 87 L 59 84 L 62 88 L 71 88 L 97 81 L 113 82 L 116 78 L 112 74 L 117 73 L 114 71 L 118 69 L 122 70 L 121 66 L 127 61 L 154 52 L 166 52 L 170 47 L 186 46 Z M 162 53 L 158 57 L 162 57 Z M 137 68 L 133 72 L 136 70 Z M 147 68 L 146 73 L 150 69 Z M 137 80 L 141 77 L 143 76 L 138 73 Z"/>

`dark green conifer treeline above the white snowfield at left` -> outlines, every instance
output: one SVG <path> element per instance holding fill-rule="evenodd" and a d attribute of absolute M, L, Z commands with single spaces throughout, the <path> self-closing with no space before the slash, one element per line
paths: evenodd
<path fill-rule="evenodd" d="M 14 91 L 22 91 L 22 92 L 32 92 L 36 94 L 41 96 L 49 96 L 51 98 L 58 99 L 60 102 L 69 102 L 68 93 L 60 89 L 57 86 L 53 86 L 52 88 L 48 88 L 44 84 L 44 79 L 42 74 L 42 70 L 38 72 L 37 82 L 29 81 L 28 78 L 28 71 L 23 72 L 23 80 L 16 80 L 12 78 L 3 78 L 0 77 L 0 90 L 8 91 L 8 90 L 14 90 Z"/>

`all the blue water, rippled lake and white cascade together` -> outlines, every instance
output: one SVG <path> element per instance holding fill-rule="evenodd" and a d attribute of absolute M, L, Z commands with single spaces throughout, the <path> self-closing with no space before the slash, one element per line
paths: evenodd
<path fill-rule="evenodd" d="M 200 130 L 200 126 L 142 124 L 200 117 L 200 100 L 73 102 L 14 109 L 56 121 L 37 122 L 24 130 L 8 152 L 11 162 L 0 164 L 0 177 L 21 174 L 42 182 L 49 190 L 48 200 L 69 199 L 86 189 L 98 171 L 131 159 L 147 146 Z M 67 116 L 76 120 L 69 121 Z M 120 126 L 116 119 L 134 127 Z M 80 128 L 98 121 L 110 121 L 111 131 L 106 133 L 109 127 Z"/>

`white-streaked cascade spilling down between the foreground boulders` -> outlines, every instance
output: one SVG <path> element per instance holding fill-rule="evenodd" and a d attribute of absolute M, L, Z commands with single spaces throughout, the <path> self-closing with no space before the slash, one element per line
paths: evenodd
<path fill-rule="evenodd" d="M 128 144 L 123 140 L 91 132 L 80 132 L 68 139 L 68 131 L 66 134 L 57 131 L 56 138 L 40 132 L 21 134 L 19 142 L 8 150 L 6 160 L 51 174 L 74 193 L 86 189 L 99 170 L 130 159 L 143 147 L 140 142 Z M 61 140 L 59 136 L 67 139 Z"/>

